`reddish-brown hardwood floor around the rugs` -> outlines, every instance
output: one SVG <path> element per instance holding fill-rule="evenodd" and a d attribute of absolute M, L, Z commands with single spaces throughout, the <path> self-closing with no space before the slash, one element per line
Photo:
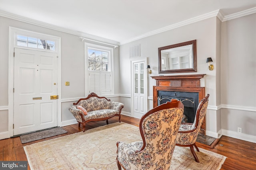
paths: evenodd
<path fill-rule="evenodd" d="M 140 119 L 122 115 L 121 121 L 138 126 Z M 113 117 L 109 119 L 108 122 L 118 122 L 118 118 Z M 86 130 L 102 125 L 106 125 L 106 121 L 89 122 L 86 124 Z M 27 160 L 23 146 L 82 131 L 82 126 L 78 128 L 78 124 L 65 126 L 63 128 L 68 131 L 68 133 L 25 144 L 21 143 L 20 137 L 0 140 L 0 161 Z M 213 149 L 203 145 L 197 146 L 226 156 L 227 158 L 222 165 L 221 170 L 256 170 L 256 143 L 222 136 Z M 29 167 L 28 170 L 30 170 Z"/>

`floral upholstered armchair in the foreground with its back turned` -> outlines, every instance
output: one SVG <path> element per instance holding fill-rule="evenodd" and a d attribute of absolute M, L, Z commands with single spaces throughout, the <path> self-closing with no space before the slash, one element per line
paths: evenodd
<path fill-rule="evenodd" d="M 116 144 L 118 169 L 168 170 L 183 111 L 183 104 L 173 100 L 145 113 L 140 119 L 142 141 Z"/>

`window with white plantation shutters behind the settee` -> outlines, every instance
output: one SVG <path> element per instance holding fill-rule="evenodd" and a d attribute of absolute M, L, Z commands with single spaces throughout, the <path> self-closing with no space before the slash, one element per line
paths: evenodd
<path fill-rule="evenodd" d="M 112 94 L 113 78 L 111 60 L 113 50 L 109 47 L 86 43 L 88 65 L 88 90 L 100 96 Z"/>

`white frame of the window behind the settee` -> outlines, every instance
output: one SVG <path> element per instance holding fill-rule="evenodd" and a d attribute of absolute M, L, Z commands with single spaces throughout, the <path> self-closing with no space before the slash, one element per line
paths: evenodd
<path fill-rule="evenodd" d="M 98 94 L 99 96 L 106 96 L 106 95 L 112 95 L 114 94 L 114 48 L 113 47 L 106 47 L 106 46 L 102 46 L 102 45 L 96 45 L 96 44 L 92 44 L 92 43 L 84 43 L 85 45 L 85 56 L 84 56 L 84 61 L 85 61 L 85 92 L 91 93 L 90 92 L 90 73 L 95 73 L 98 72 L 101 74 L 105 74 L 106 72 L 110 73 L 110 92 L 102 92 L 100 89 L 100 92 L 95 92 L 96 94 Z M 101 51 L 108 51 L 109 52 L 109 68 L 108 71 L 99 71 L 99 70 L 88 70 L 88 48 L 92 48 L 92 49 L 98 49 Z M 104 73 L 105 72 L 105 73 Z M 89 80 L 89 81 L 88 81 Z M 101 86 L 101 84 L 100 84 Z"/>

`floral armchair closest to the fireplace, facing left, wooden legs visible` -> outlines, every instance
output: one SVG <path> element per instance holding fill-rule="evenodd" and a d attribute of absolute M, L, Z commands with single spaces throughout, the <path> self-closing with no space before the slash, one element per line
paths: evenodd
<path fill-rule="evenodd" d="M 179 132 L 176 138 L 176 145 L 180 147 L 190 147 L 192 155 L 194 156 L 196 162 L 199 162 L 198 157 L 194 147 L 199 152 L 196 146 L 196 138 L 200 131 L 204 116 L 206 114 L 206 108 L 208 106 L 209 94 L 203 98 L 196 109 L 196 117 L 194 123 L 181 123 Z"/>

